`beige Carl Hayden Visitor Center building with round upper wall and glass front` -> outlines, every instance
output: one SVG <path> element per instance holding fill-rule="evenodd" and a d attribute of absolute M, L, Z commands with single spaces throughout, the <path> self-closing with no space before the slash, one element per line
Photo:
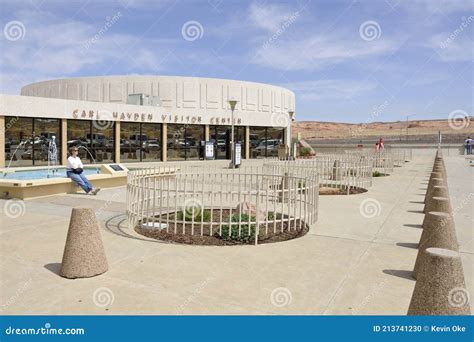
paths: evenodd
<path fill-rule="evenodd" d="M 37 82 L 0 95 L 0 167 L 276 157 L 291 141 L 292 91 L 196 77 L 105 76 Z M 212 146 L 209 153 L 205 147 Z"/>

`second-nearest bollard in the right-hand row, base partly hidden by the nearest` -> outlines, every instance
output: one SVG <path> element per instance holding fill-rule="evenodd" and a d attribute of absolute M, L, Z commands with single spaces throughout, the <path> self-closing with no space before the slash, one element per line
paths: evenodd
<path fill-rule="evenodd" d="M 453 251 L 459 249 L 454 220 L 451 214 L 437 211 L 430 211 L 423 220 L 423 232 L 418 244 L 418 255 L 416 256 L 413 278 L 417 279 L 420 270 L 423 268 L 425 249 L 437 247 L 446 248 Z"/>

